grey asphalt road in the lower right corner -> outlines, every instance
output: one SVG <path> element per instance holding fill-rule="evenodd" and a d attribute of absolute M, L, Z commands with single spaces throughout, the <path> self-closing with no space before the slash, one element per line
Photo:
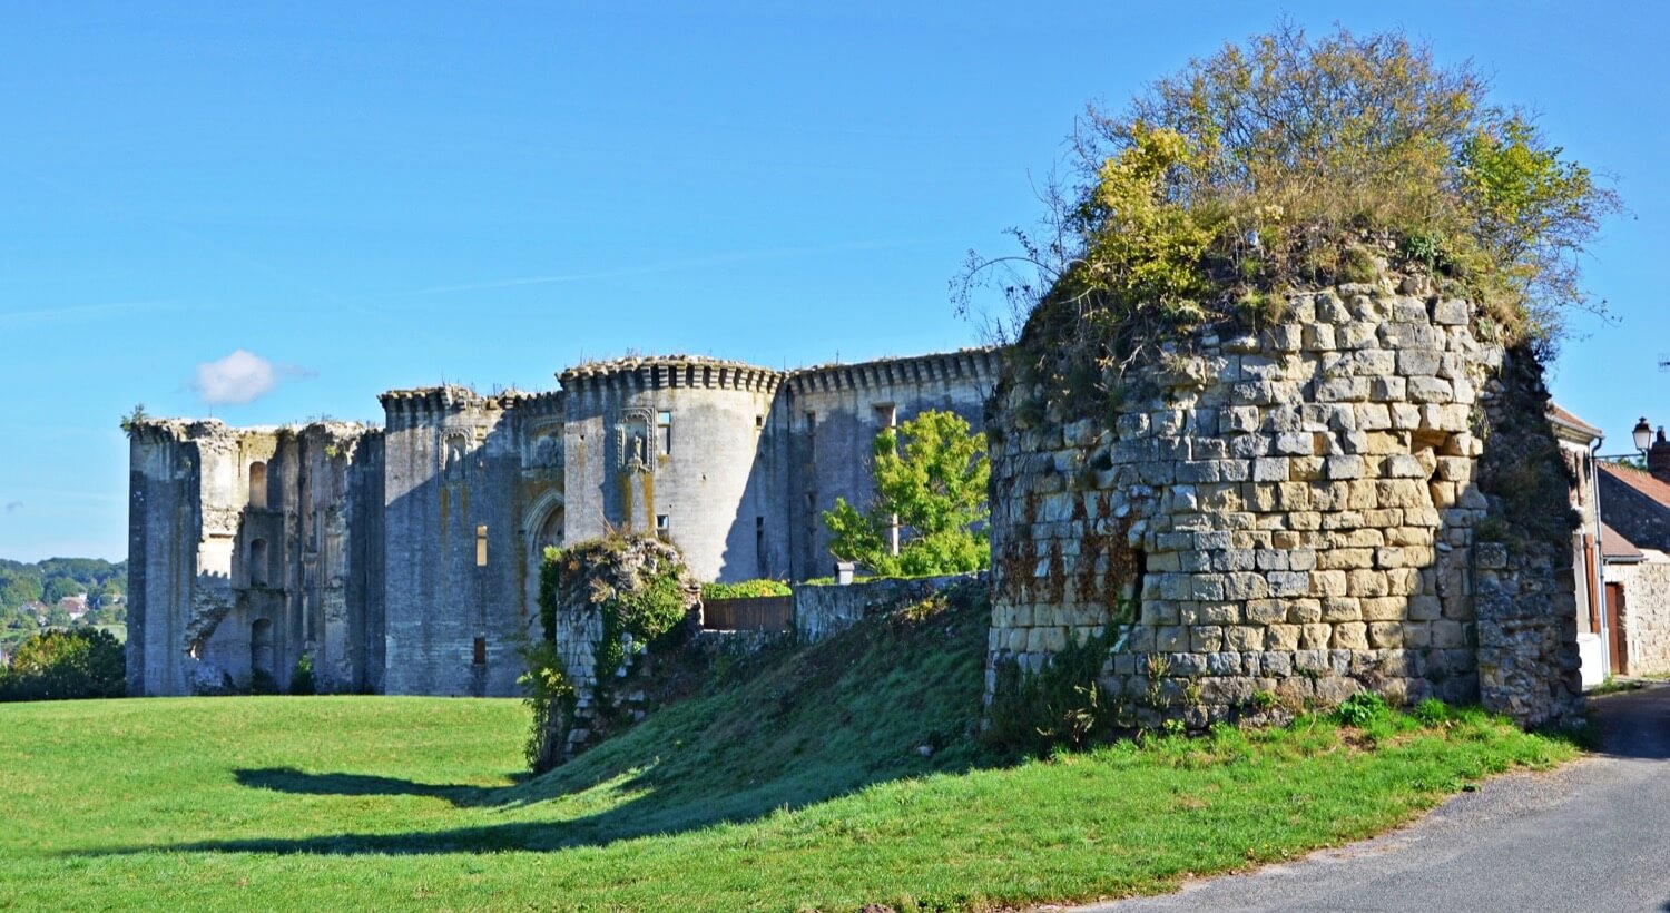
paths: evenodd
<path fill-rule="evenodd" d="M 1595 699 L 1603 753 L 1299 861 L 1086 911 L 1670 911 L 1670 686 Z"/>

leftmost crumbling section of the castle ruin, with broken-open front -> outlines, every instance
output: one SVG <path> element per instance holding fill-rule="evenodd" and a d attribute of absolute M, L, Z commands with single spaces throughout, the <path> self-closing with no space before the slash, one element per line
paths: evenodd
<path fill-rule="evenodd" d="M 286 688 L 304 654 L 317 688 L 367 688 L 381 614 L 361 593 L 381 552 L 381 471 L 366 467 L 381 467 L 379 447 L 377 432 L 346 422 L 137 426 L 130 691 L 217 693 L 257 674 Z"/>

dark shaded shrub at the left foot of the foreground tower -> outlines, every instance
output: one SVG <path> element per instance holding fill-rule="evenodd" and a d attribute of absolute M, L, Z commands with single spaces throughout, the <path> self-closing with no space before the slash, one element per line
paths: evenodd
<path fill-rule="evenodd" d="M 1119 708 L 1099 678 L 1116 641 L 1117 628 L 1109 626 L 1099 636 L 1069 639 L 1037 673 L 1012 663 L 999 668 L 984 741 L 999 751 L 1047 758 L 1111 738 Z"/>

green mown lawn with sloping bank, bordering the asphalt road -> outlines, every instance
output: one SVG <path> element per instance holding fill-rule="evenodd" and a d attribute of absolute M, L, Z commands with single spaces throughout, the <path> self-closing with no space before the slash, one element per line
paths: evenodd
<path fill-rule="evenodd" d="M 0 908 L 1089 900 L 1359 838 L 1575 754 L 1461 714 L 994 764 L 962 736 L 979 629 L 939 618 L 777 658 L 533 781 L 516 701 L 0 704 Z"/>

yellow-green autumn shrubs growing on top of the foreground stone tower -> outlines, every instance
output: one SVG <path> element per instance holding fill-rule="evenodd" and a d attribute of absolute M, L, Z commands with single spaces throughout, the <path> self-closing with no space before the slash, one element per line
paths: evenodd
<path fill-rule="evenodd" d="M 1054 237 L 1019 234 L 1042 282 L 1005 275 L 1017 317 L 1042 324 L 1040 361 L 1117 372 L 1201 324 L 1244 320 L 1249 290 L 1388 267 L 1466 295 L 1503 342 L 1543 354 L 1565 310 L 1602 309 L 1578 259 L 1617 194 L 1493 103 L 1470 65 L 1440 65 L 1403 33 L 1313 40 L 1284 25 L 1191 60 L 1121 112 L 1092 108 L 1074 135 L 1079 184 L 1052 195 Z M 970 260 L 959 307 L 1007 260 Z M 1049 374 L 1070 389 L 1070 371 Z"/>

